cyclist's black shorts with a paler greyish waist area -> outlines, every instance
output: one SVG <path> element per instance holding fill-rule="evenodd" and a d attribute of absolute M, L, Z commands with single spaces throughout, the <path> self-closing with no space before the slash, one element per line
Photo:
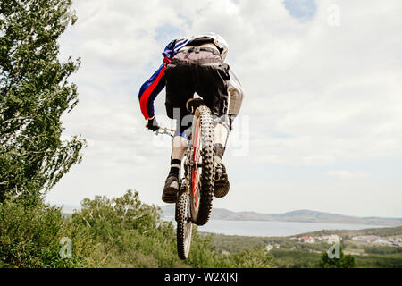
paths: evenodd
<path fill-rule="evenodd" d="M 164 75 L 166 113 L 177 120 L 180 132 L 189 126 L 186 103 L 195 92 L 204 99 L 214 117 L 228 113 L 229 65 L 222 62 L 220 55 L 203 50 L 179 52 L 173 56 Z"/>

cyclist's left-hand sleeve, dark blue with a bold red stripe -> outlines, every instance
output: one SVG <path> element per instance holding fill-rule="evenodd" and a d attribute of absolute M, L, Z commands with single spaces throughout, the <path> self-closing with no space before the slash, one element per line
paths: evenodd
<path fill-rule="evenodd" d="M 164 69 L 165 67 L 162 64 L 152 77 L 139 88 L 139 106 L 141 107 L 141 113 L 144 115 L 145 119 L 150 119 L 155 116 L 154 100 L 165 86 Z"/>

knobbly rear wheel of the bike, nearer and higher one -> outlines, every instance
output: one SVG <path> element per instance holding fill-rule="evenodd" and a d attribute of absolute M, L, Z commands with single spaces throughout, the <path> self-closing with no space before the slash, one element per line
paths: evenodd
<path fill-rule="evenodd" d="M 192 130 L 191 217 L 197 225 L 208 222 L 214 198 L 214 125 L 211 110 L 196 109 Z"/>

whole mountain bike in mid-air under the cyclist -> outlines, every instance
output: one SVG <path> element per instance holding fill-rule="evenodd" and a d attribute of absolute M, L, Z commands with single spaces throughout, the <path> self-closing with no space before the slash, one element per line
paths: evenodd
<path fill-rule="evenodd" d="M 191 245 L 192 224 L 208 222 L 214 198 L 214 125 L 211 110 L 201 98 L 191 98 L 188 111 L 194 115 L 188 147 L 182 160 L 183 177 L 175 207 L 177 250 L 180 259 L 187 259 Z M 172 132 L 160 127 L 156 134 Z M 181 174 L 181 170 L 179 172 Z M 179 176 L 180 178 L 180 176 Z"/>

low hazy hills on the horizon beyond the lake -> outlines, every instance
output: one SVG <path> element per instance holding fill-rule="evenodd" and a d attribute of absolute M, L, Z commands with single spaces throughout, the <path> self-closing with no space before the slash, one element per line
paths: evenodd
<path fill-rule="evenodd" d="M 161 206 L 164 217 L 174 217 L 174 205 Z M 302 223 L 351 223 L 371 225 L 402 225 L 402 218 L 358 217 L 342 214 L 322 213 L 311 210 L 296 210 L 284 214 L 260 214 L 256 212 L 232 212 L 224 208 L 213 208 L 211 219 L 228 221 L 275 221 Z"/>

